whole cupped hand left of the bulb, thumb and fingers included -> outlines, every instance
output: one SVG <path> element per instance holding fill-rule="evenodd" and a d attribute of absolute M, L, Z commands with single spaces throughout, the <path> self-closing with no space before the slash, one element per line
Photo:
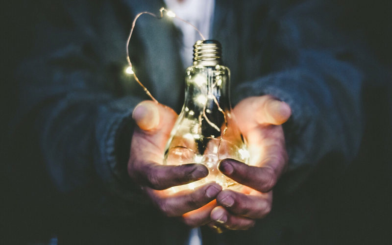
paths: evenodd
<path fill-rule="evenodd" d="M 215 198 L 222 190 L 220 185 L 211 182 L 178 193 L 165 190 L 208 175 L 208 169 L 202 164 L 162 165 L 177 114 L 167 106 L 147 100 L 135 107 L 132 117 L 137 126 L 131 142 L 129 176 L 166 216 L 181 217 L 194 227 L 210 222 Z"/>

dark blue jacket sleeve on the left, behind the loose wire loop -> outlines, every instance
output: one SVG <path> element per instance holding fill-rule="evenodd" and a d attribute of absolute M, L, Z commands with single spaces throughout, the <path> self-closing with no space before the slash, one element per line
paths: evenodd
<path fill-rule="evenodd" d="M 126 174 L 132 110 L 146 98 L 132 85 L 125 96 L 121 85 L 134 82 L 123 73 L 128 27 L 119 27 L 111 6 L 86 2 L 45 6 L 17 71 L 15 124 L 33 132 L 34 147 L 23 152 L 42 155 L 64 207 L 123 217 L 146 200 Z"/>

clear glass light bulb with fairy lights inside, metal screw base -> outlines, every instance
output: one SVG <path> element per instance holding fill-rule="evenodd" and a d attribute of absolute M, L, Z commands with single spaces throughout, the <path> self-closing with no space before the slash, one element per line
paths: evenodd
<path fill-rule="evenodd" d="M 221 44 L 197 41 L 194 65 L 187 68 L 185 102 L 166 144 L 164 164 L 204 164 L 209 175 L 196 182 L 172 187 L 173 191 L 194 189 L 209 181 L 223 188 L 240 185 L 218 170 L 222 159 L 248 163 L 249 153 L 229 98 L 230 70 L 221 64 Z"/>

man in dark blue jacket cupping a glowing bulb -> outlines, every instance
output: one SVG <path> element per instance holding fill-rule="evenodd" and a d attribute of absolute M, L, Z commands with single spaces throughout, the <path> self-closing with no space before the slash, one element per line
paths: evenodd
<path fill-rule="evenodd" d="M 266 155 L 259 167 L 221 162 L 221 172 L 249 187 L 246 194 L 210 183 L 190 195 L 165 196 L 158 190 L 207 172 L 201 165 L 160 165 L 175 120 L 170 108 L 178 112 L 183 92 L 181 35 L 171 20 L 140 19 L 129 49 L 139 78 L 170 108 L 141 102 L 142 90 L 123 74 L 131 20 L 162 5 L 44 5 L 34 49 L 18 71 L 16 122 L 32 135 L 26 152 L 41 158 L 55 187 L 49 193 L 60 203 L 56 211 L 67 214 L 55 232 L 59 240 L 183 244 L 187 225 L 203 224 L 219 231 L 255 226 L 218 237 L 203 231 L 203 242 L 212 244 L 315 237 L 312 203 L 298 188 L 325 157 L 334 156 L 331 169 L 353 159 L 362 132 L 364 74 L 357 46 L 331 23 L 334 9 L 318 1 L 215 1 L 211 37 L 221 42 L 232 72 L 234 113 L 249 144 Z M 214 199 L 217 204 L 207 204 Z"/>

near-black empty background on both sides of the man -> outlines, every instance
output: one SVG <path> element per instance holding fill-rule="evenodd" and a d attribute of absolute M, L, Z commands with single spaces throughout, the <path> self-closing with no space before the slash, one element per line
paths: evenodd
<path fill-rule="evenodd" d="M 319 239 L 327 244 L 388 244 L 392 241 L 392 1 L 335 1 L 347 32 L 365 33 L 369 73 L 375 79 L 362 89 L 365 134 L 360 152 L 342 175 L 331 178 L 328 159 L 308 181 L 316 200 Z M 18 244 L 48 241 L 61 225 L 58 201 L 35 152 L 20 156 L 24 146 L 13 145 L 12 118 L 18 112 L 15 67 L 33 45 L 34 23 L 42 18 L 49 1 L 8 1 L 2 4 L 1 81 L 1 189 L 5 241 Z M 374 64 L 373 61 L 376 61 Z M 23 137 L 29 144 L 28 132 Z M 26 160 L 27 159 L 27 160 Z M 61 221 L 61 224 L 58 222 Z M 110 230 L 109 230 L 110 231 Z"/>

